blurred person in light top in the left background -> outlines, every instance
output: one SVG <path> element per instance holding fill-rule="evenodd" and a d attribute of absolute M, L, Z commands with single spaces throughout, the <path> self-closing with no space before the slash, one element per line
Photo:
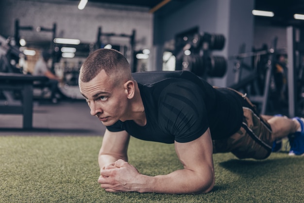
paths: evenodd
<path fill-rule="evenodd" d="M 42 57 L 40 57 L 37 63 L 35 64 L 33 75 L 41 75 L 49 78 L 49 80 L 43 83 L 42 85 L 50 88 L 51 102 L 57 103 L 59 96 L 57 96 L 56 94 L 62 95 L 62 93 L 58 89 L 58 81 L 60 80 L 60 78 L 52 74 L 51 71 L 48 69 L 48 61 L 50 60 L 50 58 L 51 54 L 47 50 L 44 50 L 42 52 Z"/>

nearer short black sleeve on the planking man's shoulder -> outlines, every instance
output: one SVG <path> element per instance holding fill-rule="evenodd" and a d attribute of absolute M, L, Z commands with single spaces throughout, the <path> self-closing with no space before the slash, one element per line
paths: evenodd
<path fill-rule="evenodd" d="M 179 80 L 161 92 L 159 124 L 175 137 L 175 141 L 193 141 L 209 128 L 202 91 L 191 81 Z"/>

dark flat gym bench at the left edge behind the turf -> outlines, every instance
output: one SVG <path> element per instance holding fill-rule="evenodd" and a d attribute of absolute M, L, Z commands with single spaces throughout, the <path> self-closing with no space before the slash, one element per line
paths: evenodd
<path fill-rule="evenodd" d="M 22 114 L 23 129 L 33 128 L 33 83 L 47 81 L 45 76 L 15 73 L 0 73 L 0 114 Z M 21 91 L 20 99 L 15 99 L 12 91 Z"/>

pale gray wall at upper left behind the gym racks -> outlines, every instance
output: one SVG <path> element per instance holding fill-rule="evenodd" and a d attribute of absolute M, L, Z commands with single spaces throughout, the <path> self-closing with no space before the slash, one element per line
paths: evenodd
<path fill-rule="evenodd" d="M 78 10 L 78 1 L 70 0 L 0 0 L 0 35 L 14 36 L 14 23 L 20 26 L 52 28 L 57 25 L 56 37 L 77 38 L 84 43 L 97 40 L 98 27 L 103 33 L 131 35 L 136 31 L 135 50 L 152 49 L 153 18 L 148 8 L 88 2 Z M 20 31 L 27 40 L 50 40 L 51 32 Z M 104 41 L 129 44 L 129 38 L 111 37 Z M 148 70 L 150 68 L 148 67 Z"/>

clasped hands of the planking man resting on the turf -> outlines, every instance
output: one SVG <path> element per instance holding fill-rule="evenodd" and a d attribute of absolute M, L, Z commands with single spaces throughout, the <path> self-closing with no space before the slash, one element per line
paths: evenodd
<path fill-rule="evenodd" d="M 122 159 L 101 168 L 98 183 L 108 192 L 138 191 L 140 188 L 138 170 Z"/>

